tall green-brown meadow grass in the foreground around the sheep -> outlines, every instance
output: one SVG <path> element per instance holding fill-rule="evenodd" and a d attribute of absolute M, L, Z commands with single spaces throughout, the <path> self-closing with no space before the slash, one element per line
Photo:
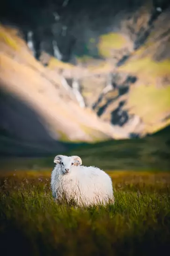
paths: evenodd
<path fill-rule="evenodd" d="M 17 256 L 151 256 L 170 250 L 170 173 L 110 171 L 115 204 L 56 205 L 49 170 L 0 176 L 0 250 Z"/>

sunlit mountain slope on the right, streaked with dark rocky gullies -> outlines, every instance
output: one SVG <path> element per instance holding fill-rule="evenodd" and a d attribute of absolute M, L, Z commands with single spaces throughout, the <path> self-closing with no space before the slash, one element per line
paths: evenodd
<path fill-rule="evenodd" d="M 170 8 L 142 6 L 100 39 L 103 67 L 94 64 L 91 77 L 82 78 L 82 94 L 97 115 L 140 136 L 170 124 Z"/>

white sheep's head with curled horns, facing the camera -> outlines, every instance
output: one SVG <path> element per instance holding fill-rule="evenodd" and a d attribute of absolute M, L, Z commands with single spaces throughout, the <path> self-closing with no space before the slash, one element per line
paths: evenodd
<path fill-rule="evenodd" d="M 54 158 L 54 163 L 60 164 L 62 173 L 67 174 L 71 171 L 73 166 L 81 165 L 82 161 L 81 158 L 77 155 L 56 155 Z"/>

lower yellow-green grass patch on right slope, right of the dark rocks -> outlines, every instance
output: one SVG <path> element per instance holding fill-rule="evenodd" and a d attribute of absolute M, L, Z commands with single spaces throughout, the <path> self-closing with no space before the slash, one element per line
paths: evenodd
<path fill-rule="evenodd" d="M 165 88 L 156 88 L 154 85 L 132 87 L 126 108 L 130 109 L 130 113 L 135 112 L 140 116 L 145 124 L 159 124 L 165 113 L 170 113 L 170 86 Z M 153 127 L 151 128 L 152 132 L 155 132 Z"/>

